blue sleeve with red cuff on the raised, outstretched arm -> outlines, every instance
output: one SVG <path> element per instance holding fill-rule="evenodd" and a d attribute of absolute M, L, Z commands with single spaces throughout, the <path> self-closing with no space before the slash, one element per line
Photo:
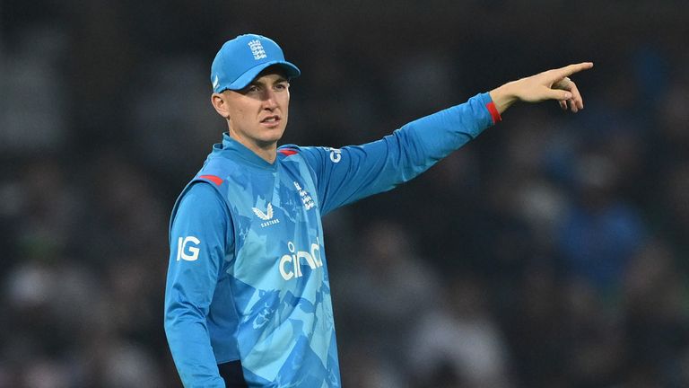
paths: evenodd
<path fill-rule="evenodd" d="M 316 174 L 321 214 L 411 180 L 498 120 L 490 94 L 482 93 L 372 143 L 300 147 Z"/>

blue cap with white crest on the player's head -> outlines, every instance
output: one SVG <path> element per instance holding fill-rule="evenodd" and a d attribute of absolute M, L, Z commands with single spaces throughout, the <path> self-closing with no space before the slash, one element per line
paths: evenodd
<path fill-rule="evenodd" d="M 284 60 L 283 49 L 261 35 L 240 35 L 228 40 L 215 55 L 211 66 L 213 92 L 239 90 L 248 85 L 267 66 L 281 66 L 288 78 L 301 74 L 299 67 Z"/>

